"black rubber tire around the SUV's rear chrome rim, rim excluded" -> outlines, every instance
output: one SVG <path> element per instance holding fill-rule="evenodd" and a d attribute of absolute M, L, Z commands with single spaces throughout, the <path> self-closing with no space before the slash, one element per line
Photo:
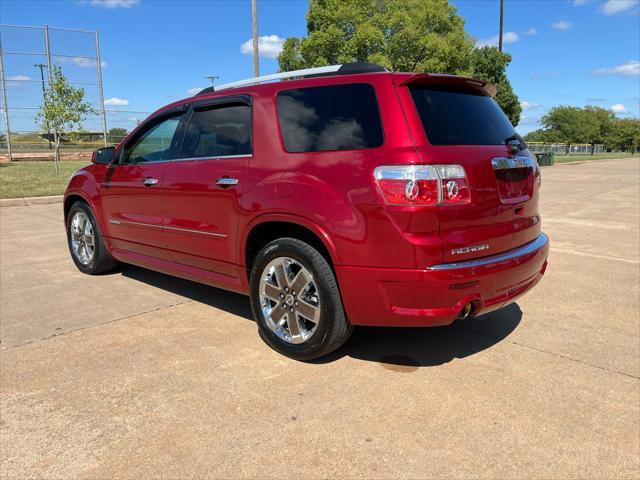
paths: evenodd
<path fill-rule="evenodd" d="M 260 280 L 269 263 L 279 257 L 292 258 L 306 268 L 316 285 L 320 317 L 316 330 L 304 343 L 293 344 L 269 328 L 260 305 Z M 311 245 L 294 238 L 279 238 L 267 244 L 256 256 L 250 272 L 251 309 L 260 337 L 277 352 L 296 360 L 313 360 L 340 348 L 351 335 L 338 283 L 327 260 Z"/>

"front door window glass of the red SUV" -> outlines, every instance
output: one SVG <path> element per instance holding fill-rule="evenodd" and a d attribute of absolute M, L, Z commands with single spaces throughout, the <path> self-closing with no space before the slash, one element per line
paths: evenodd
<path fill-rule="evenodd" d="M 127 145 L 122 163 L 162 162 L 171 160 L 175 134 L 182 114 L 161 120 Z"/>

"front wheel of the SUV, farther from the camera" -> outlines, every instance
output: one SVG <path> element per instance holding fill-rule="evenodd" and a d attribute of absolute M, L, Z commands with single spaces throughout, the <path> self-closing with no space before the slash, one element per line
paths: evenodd
<path fill-rule="evenodd" d="M 71 258 L 82 273 L 95 275 L 117 265 L 107 251 L 93 212 L 84 202 L 78 201 L 69 209 L 67 242 Z"/>

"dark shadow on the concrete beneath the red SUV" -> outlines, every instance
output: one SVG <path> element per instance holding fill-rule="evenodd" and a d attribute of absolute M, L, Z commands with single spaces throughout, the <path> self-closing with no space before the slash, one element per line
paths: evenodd
<path fill-rule="evenodd" d="M 123 265 L 120 273 L 127 278 L 254 321 L 249 297 L 245 295 L 133 265 Z M 522 311 L 513 303 L 496 312 L 458 320 L 444 327 L 357 327 L 342 348 L 313 363 L 330 363 L 349 356 L 379 362 L 384 368 L 398 372 L 443 365 L 455 358 L 481 352 L 504 340 L 521 319 Z"/>

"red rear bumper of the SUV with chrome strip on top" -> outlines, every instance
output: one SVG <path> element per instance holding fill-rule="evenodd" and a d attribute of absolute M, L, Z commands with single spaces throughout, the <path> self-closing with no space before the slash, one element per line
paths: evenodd
<path fill-rule="evenodd" d="M 422 270 L 336 267 L 346 313 L 354 325 L 437 326 L 468 303 L 472 315 L 497 310 L 536 285 L 547 267 L 544 233 L 509 252 Z"/>

